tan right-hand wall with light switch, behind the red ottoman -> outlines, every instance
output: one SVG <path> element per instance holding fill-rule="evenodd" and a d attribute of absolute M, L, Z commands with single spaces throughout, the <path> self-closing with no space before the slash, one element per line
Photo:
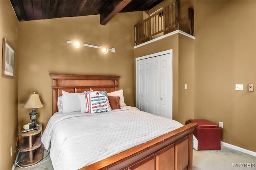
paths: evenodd
<path fill-rule="evenodd" d="M 195 119 L 256 152 L 256 1 L 195 1 Z M 235 91 L 244 84 L 244 91 Z"/>

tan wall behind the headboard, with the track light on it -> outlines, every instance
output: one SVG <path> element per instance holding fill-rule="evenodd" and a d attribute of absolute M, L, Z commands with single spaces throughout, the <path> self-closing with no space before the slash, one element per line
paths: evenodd
<path fill-rule="evenodd" d="M 19 22 L 18 120 L 19 127 L 29 123 L 29 109 L 22 108 L 30 93 L 36 91 L 44 107 L 36 109 L 37 121 L 46 126 L 52 115 L 49 73 L 120 75 L 127 105 L 134 106 L 134 25 L 142 12 L 117 14 L 105 26 L 100 16 L 83 16 Z M 67 40 L 114 47 L 115 53 L 99 49 L 78 49 Z"/>

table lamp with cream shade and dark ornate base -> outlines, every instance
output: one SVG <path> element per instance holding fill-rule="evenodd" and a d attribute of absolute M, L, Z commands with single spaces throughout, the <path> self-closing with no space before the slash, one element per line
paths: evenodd
<path fill-rule="evenodd" d="M 33 92 L 32 94 L 30 94 L 27 103 L 25 103 L 22 107 L 26 108 L 26 109 L 32 109 L 32 112 L 29 113 L 30 119 L 31 119 L 32 123 L 36 124 L 37 113 L 35 112 L 35 110 L 36 110 L 36 108 L 43 107 L 43 105 L 39 99 L 39 95 L 36 94 L 36 92 Z"/>

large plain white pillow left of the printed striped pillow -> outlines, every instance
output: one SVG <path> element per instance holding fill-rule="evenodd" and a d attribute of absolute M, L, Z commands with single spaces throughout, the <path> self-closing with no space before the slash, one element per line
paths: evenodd
<path fill-rule="evenodd" d="M 63 113 L 80 111 L 80 100 L 78 95 L 84 95 L 84 93 L 68 93 L 62 90 L 62 111 Z"/>

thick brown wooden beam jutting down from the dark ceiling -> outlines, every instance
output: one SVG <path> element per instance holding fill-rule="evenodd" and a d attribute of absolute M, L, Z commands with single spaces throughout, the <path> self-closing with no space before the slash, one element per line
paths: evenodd
<path fill-rule="evenodd" d="M 118 12 L 120 12 L 132 0 L 122 0 L 113 10 L 100 14 L 100 24 L 106 25 Z"/>

